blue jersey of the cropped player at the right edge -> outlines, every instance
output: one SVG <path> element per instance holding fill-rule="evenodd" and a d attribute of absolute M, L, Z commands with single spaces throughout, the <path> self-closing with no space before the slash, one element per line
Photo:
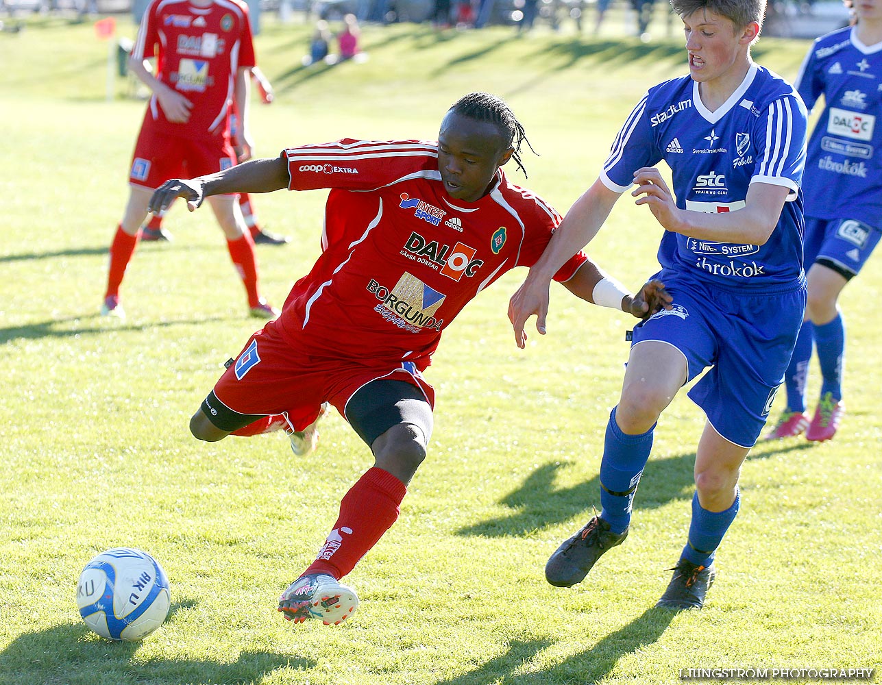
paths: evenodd
<path fill-rule="evenodd" d="M 882 220 L 882 43 L 863 45 L 853 28 L 818 38 L 796 89 L 806 106 L 824 95 L 805 168 L 805 213 L 878 227 Z M 845 213 L 843 213 L 845 212 Z"/>

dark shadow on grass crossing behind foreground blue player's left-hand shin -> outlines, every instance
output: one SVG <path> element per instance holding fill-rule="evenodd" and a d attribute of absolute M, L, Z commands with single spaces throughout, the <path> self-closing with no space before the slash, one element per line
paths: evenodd
<path fill-rule="evenodd" d="M 695 452 L 676 457 L 650 459 L 634 497 L 634 509 L 656 509 L 673 500 L 691 500 Z M 512 509 L 505 517 L 491 518 L 460 528 L 460 535 L 501 538 L 542 530 L 578 515 L 594 504 L 600 509 L 600 477 L 594 476 L 569 488 L 557 488 L 559 462 L 545 464 L 527 476 L 519 488 L 499 503 Z"/>

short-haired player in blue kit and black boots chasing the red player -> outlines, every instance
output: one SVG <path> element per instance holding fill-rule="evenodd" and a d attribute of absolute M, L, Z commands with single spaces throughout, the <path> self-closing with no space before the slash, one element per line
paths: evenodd
<path fill-rule="evenodd" d="M 683 552 L 659 607 L 701 607 L 714 552 L 736 517 L 738 473 L 772 406 L 805 309 L 805 106 L 793 86 L 751 60 L 765 0 L 671 0 L 683 19 L 689 76 L 650 88 L 624 122 L 594 184 L 576 201 L 509 317 L 523 347 L 536 315 L 545 332 L 549 279 L 602 226 L 618 197 L 646 205 L 665 229 L 659 278 L 673 296 L 633 331 L 600 467 L 602 511 L 551 555 L 550 584 L 583 580 L 620 544 L 652 448 L 676 392 L 706 413 Z M 664 160 L 673 190 L 654 165 Z M 676 196 L 675 193 L 676 192 Z"/>

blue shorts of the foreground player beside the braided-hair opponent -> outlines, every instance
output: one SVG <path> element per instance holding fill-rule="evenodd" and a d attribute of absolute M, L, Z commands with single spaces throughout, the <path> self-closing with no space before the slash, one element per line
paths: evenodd
<path fill-rule="evenodd" d="M 730 443 L 752 447 L 766 424 L 803 323 L 805 279 L 774 292 L 737 293 L 671 272 L 662 279 L 673 309 L 638 324 L 632 345 L 675 346 L 688 365 L 689 391 L 707 421 Z"/>

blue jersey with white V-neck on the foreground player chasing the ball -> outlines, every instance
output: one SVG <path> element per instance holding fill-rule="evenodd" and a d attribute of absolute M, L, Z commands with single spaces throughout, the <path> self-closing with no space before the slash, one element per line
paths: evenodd
<path fill-rule="evenodd" d="M 676 205 L 698 212 L 744 207 L 752 182 L 790 189 L 765 245 L 710 242 L 666 231 L 664 269 L 725 289 L 793 286 L 803 278 L 803 193 L 807 123 L 793 86 L 751 63 L 741 86 L 714 112 L 688 76 L 654 86 L 619 131 L 602 182 L 624 192 L 633 174 L 661 160 L 671 169 Z"/>

